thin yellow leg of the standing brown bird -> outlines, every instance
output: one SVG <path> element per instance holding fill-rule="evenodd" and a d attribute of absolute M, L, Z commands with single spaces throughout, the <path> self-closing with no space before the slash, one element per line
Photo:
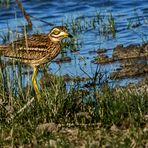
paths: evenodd
<path fill-rule="evenodd" d="M 38 71 L 37 67 L 33 67 L 32 84 L 33 84 L 34 91 L 35 91 L 37 97 L 40 97 L 40 92 L 39 92 L 38 84 L 36 81 L 37 71 Z"/>

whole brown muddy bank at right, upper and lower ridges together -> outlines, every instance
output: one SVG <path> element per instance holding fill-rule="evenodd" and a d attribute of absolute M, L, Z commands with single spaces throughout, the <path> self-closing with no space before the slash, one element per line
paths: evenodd
<path fill-rule="evenodd" d="M 98 54 L 93 63 L 112 64 L 120 62 L 120 67 L 110 74 L 111 79 L 134 77 L 148 74 L 148 44 L 117 45 L 111 58 Z"/>

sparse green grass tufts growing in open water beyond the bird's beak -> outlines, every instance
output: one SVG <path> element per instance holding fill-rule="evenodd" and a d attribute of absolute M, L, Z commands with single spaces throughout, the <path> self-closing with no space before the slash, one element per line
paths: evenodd
<path fill-rule="evenodd" d="M 78 36 L 88 30 L 97 30 L 100 36 L 105 38 L 112 35 L 115 38 L 117 26 L 115 23 L 115 18 L 112 13 L 103 14 L 101 12 L 96 12 L 94 16 L 89 19 L 87 17 L 80 18 L 68 18 L 67 20 L 62 20 L 63 25 L 69 27 L 74 36 Z"/>

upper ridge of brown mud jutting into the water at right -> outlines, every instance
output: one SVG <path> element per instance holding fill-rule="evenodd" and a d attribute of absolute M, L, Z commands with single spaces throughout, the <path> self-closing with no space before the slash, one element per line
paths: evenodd
<path fill-rule="evenodd" d="M 129 45 L 124 47 L 122 44 L 113 49 L 113 55 L 109 58 L 105 54 L 99 54 L 92 61 L 95 64 L 107 64 L 109 62 L 122 61 L 127 59 L 145 59 L 148 60 L 148 44 Z"/>

